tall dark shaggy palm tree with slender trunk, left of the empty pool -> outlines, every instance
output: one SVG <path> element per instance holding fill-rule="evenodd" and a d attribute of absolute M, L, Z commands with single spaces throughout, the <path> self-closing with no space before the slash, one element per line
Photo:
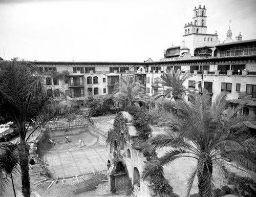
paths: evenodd
<path fill-rule="evenodd" d="M 30 196 L 29 179 L 29 145 L 27 140 L 34 131 L 45 122 L 66 117 L 69 120 L 75 115 L 88 119 L 87 115 L 73 105 L 66 107 L 56 103 L 47 96 L 46 85 L 42 77 L 37 75 L 37 68 L 27 61 L 4 61 L 0 71 L 0 108 L 1 115 L 11 119 L 16 126 L 20 145 L 27 157 L 19 158 L 22 174 L 22 192 Z M 90 122 L 90 121 L 89 121 Z M 27 123 L 29 123 L 27 125 Z M 28 128 L 34 125 L 27 137 Z"/>

